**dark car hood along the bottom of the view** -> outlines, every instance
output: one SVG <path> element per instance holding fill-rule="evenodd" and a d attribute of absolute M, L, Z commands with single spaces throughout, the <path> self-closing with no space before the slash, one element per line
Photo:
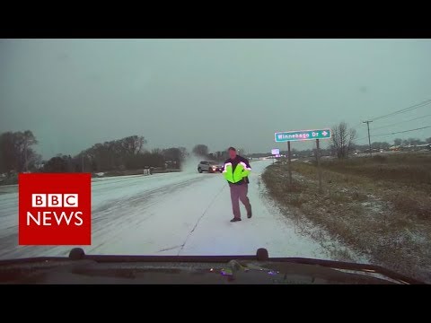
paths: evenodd
<path fill-rule="evenodd" d="M 1 260 L 0 283 L 422 284 L 379 266 L 268 258 L 259 250 L 256 256 L 112 256 L 73 249 L 68 258 Z"/>

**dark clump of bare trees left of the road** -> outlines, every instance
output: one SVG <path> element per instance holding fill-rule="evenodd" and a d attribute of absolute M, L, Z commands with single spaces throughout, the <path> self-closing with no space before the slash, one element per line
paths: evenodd
<path fill-rule="evenodd" d="M 150 167 L 180 168 L 188 155 L 184 147 L 145 150 L 144 136 L 130 135 L 119 140 L 93 144 L 75 156 L 58 154 L 42 161 L 34 146 L 38 144 L 30 130 L 0 135 L 0 173 L 103 172 L 137 170 Z"/>

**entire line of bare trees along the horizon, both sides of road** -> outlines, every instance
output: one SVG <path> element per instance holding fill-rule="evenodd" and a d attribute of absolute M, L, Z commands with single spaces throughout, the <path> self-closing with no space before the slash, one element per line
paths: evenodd
<path fill-rule="evenodd" d="M 368 144 L 356 144 L 356 130 L 348 128 L 345 122 L 332 127 L 332 137 L 327 149 L 321 149 L 322 155 L 347 158 L 353 151 L 365 151 Z M 45 172 L 104 172 L 110 170 L 138 170 L 150 167 L 180 168 L 189 153 L 184 147 L 168 149 L 145 149 L 147 144 L 144 136 L 129 135 L 122 139 L 93 144 L 75 156 L 58 154 L 48 161 L 42 161 L 39 153 L 34 150 L 38 140 L 31 130 L 5 132 L 0 134 L 0 174 L 7 172 L 45 171 Z M 431 137 L 425 141 L 417 138 L 396 138 L 393 145 L 431 144 Z M 374 142 L 372 149 L 389 150 L 392 144 Z M 246 155 L 242 148 L 238 152 Z M 223 162 L 229 156 L 227 150 L 209 152 L 206 144 L 197 144 L 192 153 L 199 158 Z M 285 152 L 281 152 L 286 154 Z M 314 150 L 292 150 L 295 157 L 308 157 L 315 154 Z M 249 157 L 262 157 L 269 153 L 251 153 Z"/>

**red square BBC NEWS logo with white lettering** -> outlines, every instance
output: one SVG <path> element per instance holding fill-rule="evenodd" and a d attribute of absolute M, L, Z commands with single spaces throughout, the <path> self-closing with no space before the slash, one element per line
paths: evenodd
<path fill-rule="evenodd" d="M 20 174 L 19 244 L 90 245 L 90 174 Z"/>

